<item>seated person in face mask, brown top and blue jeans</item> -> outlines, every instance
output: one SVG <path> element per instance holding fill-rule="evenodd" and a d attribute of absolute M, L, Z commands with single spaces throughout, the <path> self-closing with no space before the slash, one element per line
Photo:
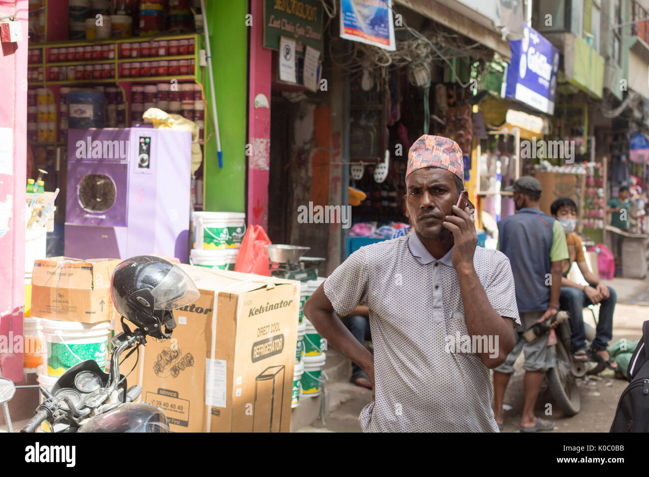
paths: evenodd
<path fill-rule="evenodd" d="M 590 356 L 607 368 L 617 371 L 617 363 L 606 350 L 611 337 L 613 337 L 613 310 L 615 310 L 615 302 L 617 301 L 615 290 L 600 282 L 599 278 L 588 269 L 583 254 L 582 241 L 577 234 L 573 233 L 577 224 L 577 204 L 568 197 L 559 197 L 559 199 L 552 202 L 550 213 L 552 217 L 555 217 L 561 223 L 563 230 L 566 232 L 568 253 L 570 255 L 570 259 L 563 267 L 559 304 L 561 310 L 570 313 L 574 360 L 587 361 Z M 577 262 L 577 266 L 589 286 L 576 284 L 566 278 L 572 262 Z M 583 327 L 583 308 L 589 304 L 598 303 L 601 306 L 596 335 L 593 343 L 591 343 L 591 350 L 587 350 Z"/>

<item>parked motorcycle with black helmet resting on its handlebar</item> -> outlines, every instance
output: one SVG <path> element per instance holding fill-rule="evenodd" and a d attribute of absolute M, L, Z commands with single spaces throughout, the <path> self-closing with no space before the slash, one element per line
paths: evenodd
<path fill-rule="evenodd" d="M 40 389 L 45 397 L 21 432 L 34 432 L 43 421 L 51 424 L 53 432 L 170 432 L 160 408 L 134 402 L 142 388 L 127 388 L 128 374 L 120 374 L 119 358 L 128 349 L 132 350 L 125 359 L 134 351 L 139 358 L 138 348 L 146 345 L 147 336 L 169 339 L 176 326 L 173 310 L 198 299 L 200 293 L 177 265 L 156 256 L 136 256 L 117 265 L 111 296 L 122 317 L 123 332 L 112 339 L 109 373 L 94 360 L 82 361 L 67 369 L 51 391 L 40 385 L 16 386 L 0 378 L 0 405 L 11 400 L 16 389 Z M 137 328 L 131 332 L 124 319 Z M 11 428 L 10 419 L 7 423 Z"/>

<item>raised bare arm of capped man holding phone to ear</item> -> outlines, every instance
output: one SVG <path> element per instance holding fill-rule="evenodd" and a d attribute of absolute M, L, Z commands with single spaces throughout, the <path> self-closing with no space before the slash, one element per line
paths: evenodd
<path fill-rule="evenodd" d="M 478 353 L 480 361 L 493 369 L 507 359 L 516 344 L 513 331 L 514 321 L 500 316 L 487 299 L 487 293 L 473 267 L 473 256 L 478 244 L 478 234 L 466 210 L 453 206 L 454 214 L 447 215 L 443 226 L 453 234 L 453 267 L 458 273 L 459 289 L 464 304 L 467 330 L 473 336 L 495 336 L 498 343 L 498 356 L 489 357 L 489 351 Z M 511 273 L 511 271 L 510 271 Z M 512 281 L 513 286 L 513 281 Z"/>

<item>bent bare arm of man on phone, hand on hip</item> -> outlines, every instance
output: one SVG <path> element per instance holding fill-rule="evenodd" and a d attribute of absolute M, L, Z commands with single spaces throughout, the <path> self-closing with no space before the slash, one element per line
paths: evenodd
<path fill-rule="evenodd" d="M 359 307 L 357 307 L 359 308 Z M 354 310 L 356 311 L 356 310 Z M 354 361 L 367 373 L 374 388 L 374 356 L 350 333 L 334 314 L 334 306 L 324 294 L 324 283 L 304 304 L 304 315 L 327 343 Z"/>

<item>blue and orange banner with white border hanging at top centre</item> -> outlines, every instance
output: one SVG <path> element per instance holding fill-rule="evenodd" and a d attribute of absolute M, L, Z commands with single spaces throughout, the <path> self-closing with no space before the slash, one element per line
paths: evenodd
<path fill-rule="evenodd" d="M 395 51 L 392 0 L 373 5 L 360 0 L 341 2 L 340 38 Z"/>

